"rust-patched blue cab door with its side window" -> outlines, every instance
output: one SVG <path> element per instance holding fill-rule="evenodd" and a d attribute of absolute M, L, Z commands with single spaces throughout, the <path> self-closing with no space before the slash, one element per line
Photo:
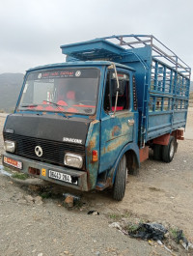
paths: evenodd
<path fill-rule="evenodd" d="M 103 108 L 101 110 L 99 173 L 110 169 L 124 146 L 133 141 L 134 112 L 131 107 L 131 73 L 118 71 L 120 83 L 115 111 L 117 80 L 114 71 L 108 71 Z"/>

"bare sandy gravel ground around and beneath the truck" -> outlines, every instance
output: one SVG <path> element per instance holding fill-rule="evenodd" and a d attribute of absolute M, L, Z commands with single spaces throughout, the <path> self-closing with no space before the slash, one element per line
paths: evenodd
<path fill-rule="evenodd" d="M 0 116 L 0 130 L 4 121 Z M 151 154 L 137 176 L 128 176 L 119 203 L 111 199 L 109 190 L 79 193 L 0 175 L 0 255 L 171 255 L 158 244 L 130 239 L 110 228 L 109 223 L 120 215 L 178 227 L 193 242 L 193 108 L 185 138 L 171 163 L 154 161 Z M 41 200 L 43 189 L 53 196 Z M 72 210 L 63 207 L 61 194 L 66 192 L 81 196 L 82 204 Z M 90 210 L 99 215 L 88 215 Z M 188 254 L 179 250 L 173 255 Z"/>

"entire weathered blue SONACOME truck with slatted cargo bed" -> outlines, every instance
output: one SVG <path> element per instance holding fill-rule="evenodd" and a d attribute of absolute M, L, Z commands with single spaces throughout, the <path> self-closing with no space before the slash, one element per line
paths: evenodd
<path fill-rule="evenodd" d="M 26 71 L 3 137 L 5 166 L 82 191 L 112 188 L 149 157 L 172 161 L 191 69 L 152 35 L 62 45 L 66 62 Z"/>

